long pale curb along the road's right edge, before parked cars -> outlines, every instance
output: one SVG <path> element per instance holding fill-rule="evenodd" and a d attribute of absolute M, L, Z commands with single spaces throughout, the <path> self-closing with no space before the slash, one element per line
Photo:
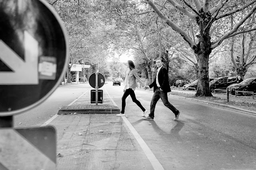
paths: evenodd
<path fill-rule="evenodd" d="M 228 106 L 228 105 L 226 105 L 226 104 L 218 104 L 218 103 L 208 102 L 208 101 L 204 101 L 204 100 L 198 100 L 198 99 L 192 99 L 192 98 L 185 98 L 185 97 L 182 97 L 182 96 L 176 96 L 176 95 L 172 95 L 172 94 L 169 94 L 168 96 L 170 96 L 170 97 L 172 97 L 172 98 L 183 99 L 183 100 L 190 100 L 190 101 L 192 101 L 192 102 L 202 102 L 203 104 L 211 104 L 212 106 L 218 106 L 218 107 L 228 108 L 228 109 L 235 109 L 235 110 L 239 110 L 239 111 L 244 111 L 244 112 L 256 114 L 255 111 L 240 109 L 240 108 L 238 108 L 238 107 Z"/>

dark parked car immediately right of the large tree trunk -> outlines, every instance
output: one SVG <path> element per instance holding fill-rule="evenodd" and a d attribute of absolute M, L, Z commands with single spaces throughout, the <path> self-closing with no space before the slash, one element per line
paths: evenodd
<path fill-rule="evenodd" d="M 236 77 L 218 77 L 210 81 L 210 91 L 214 92 L 214 89 L 226 89 L 231 84 L 236 83 Z"/>

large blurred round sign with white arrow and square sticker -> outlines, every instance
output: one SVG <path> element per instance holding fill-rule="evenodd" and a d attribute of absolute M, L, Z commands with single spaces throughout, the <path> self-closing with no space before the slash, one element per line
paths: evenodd
<path fill-rule="evenodd" d="M 10 116 L 54 92 L 68 65 L 69 46 L 60 17 L 45 0 L 0 4 L 0 116 Z"/>

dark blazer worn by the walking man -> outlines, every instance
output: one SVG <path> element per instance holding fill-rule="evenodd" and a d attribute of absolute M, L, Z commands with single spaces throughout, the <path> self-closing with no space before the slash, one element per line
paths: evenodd
<path fill-rule="evenodd" d="M 168 72 L 166 70 L 166 68 L 162 67 L 160 70 L 159 70 L 159 73 L 158 73 L 158 82 L 161 86 L 161 89 L 164 91 L 164 92 L 170 92 L 171 91 L 171 88 L 170 88 L 170 85 L 169 85 L 169 78 L 168 78 Z M 149 85 L 150 88 L 154 87 L 154 92 L 156 91 L 156 88 L 157 88 L 157 85 L 156 85 L 156 78 L 154 80 L 154 82 L 152 82 L 152 84 Z"/>

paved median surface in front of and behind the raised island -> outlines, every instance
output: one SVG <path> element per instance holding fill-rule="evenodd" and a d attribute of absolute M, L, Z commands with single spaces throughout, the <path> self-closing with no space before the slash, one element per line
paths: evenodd
<path fill-rule="evenodd" d="M 90 91 L 72 106 L 88 103 Z M 105 105 L 114 105 L 105 93 Z M 102 106 L 102 104 L 98 104 Z M 57 132 L 57 170 L 152 170 L 122 117 L 106 113 L 58 115 L 49 125 Z"/>

